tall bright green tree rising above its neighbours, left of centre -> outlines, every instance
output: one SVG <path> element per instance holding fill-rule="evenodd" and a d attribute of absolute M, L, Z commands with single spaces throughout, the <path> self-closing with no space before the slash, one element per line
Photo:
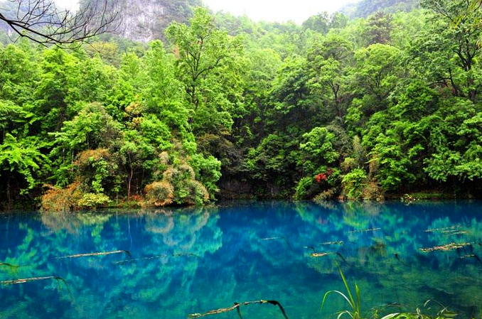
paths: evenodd
<path fill-rule="evenodd" d="M 173 23 L 166 31 L 175 45 L 178 78 L 186 88 L 196 134 L 229 133 L 241 101 L 240 38 L 215 28 L 205 9 L 196 9 L 190 25 Z"/>

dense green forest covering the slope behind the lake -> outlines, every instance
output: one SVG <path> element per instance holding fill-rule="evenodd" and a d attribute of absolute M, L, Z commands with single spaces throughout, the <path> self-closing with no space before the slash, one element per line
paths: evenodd
<path fill-rule="evenodd" d="M 0 207 L 475 198 L 482 10 L 298 25 L 193 9 L 160 40 L 0 33 Z"/>

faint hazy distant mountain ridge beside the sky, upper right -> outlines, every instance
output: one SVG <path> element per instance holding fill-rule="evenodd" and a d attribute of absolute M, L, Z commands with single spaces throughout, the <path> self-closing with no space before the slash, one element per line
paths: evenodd
<path fill-rule="evenodd" d="M 420 0 L 361 0 L 358 3 L 343 6 L 339 11 L 348 18 L 366 18 L 377 11 L 389 13 L 412 11 L 419 5 Z"/>

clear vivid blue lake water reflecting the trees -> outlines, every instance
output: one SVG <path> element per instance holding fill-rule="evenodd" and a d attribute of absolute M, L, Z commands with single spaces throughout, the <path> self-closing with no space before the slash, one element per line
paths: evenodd
<path fill-rule="evenodd" d="M 423 308 L 435 299 L 478 315 L 482 202 L 316 205 L 234 202 L 218 207 L 0 215 L 0 318 L 187 318 L 235 302 L 274 299 L 290 319 L 336 318 L 346 308 L 341 266 L 363 307 Z M 426 232 L 427 229 L 437 229 Z M 270 237 L 279 239 L 263 240 Z M 286 239 L 286 240 L 285 240 Z M 343 244 L 321 244 L 343 242 Z M 419 248 L 469 242 L 458 251 Z M 305 247 L 314 247 L 309 249 Z M 130 252 L 58 259 L 92 252 Z M 312 252 L 328 252 L 312 257 Z M 333 254 L 338 252 L 338 254 Z M 397 254 L 397 256 L 395 256 Z M 440 307 L 432 304 L 437 311 Z M 243 318 L 282 318 L 271 305 Z M 235 312 L 213 318 L 237 318 Z"/>

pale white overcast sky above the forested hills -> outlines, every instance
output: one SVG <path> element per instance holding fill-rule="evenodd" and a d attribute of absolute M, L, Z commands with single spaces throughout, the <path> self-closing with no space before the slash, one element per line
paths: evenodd
<path fill-rule="evenodd" d="M 73 8 L 78 0 L 55 0 L 64 8 Z M 214 11 L 237 16 L 246 14 L 255 21 L 288 21 L 301 23 L 321 11 L 334 12 L 355 0 L 204 0 Z"/>

